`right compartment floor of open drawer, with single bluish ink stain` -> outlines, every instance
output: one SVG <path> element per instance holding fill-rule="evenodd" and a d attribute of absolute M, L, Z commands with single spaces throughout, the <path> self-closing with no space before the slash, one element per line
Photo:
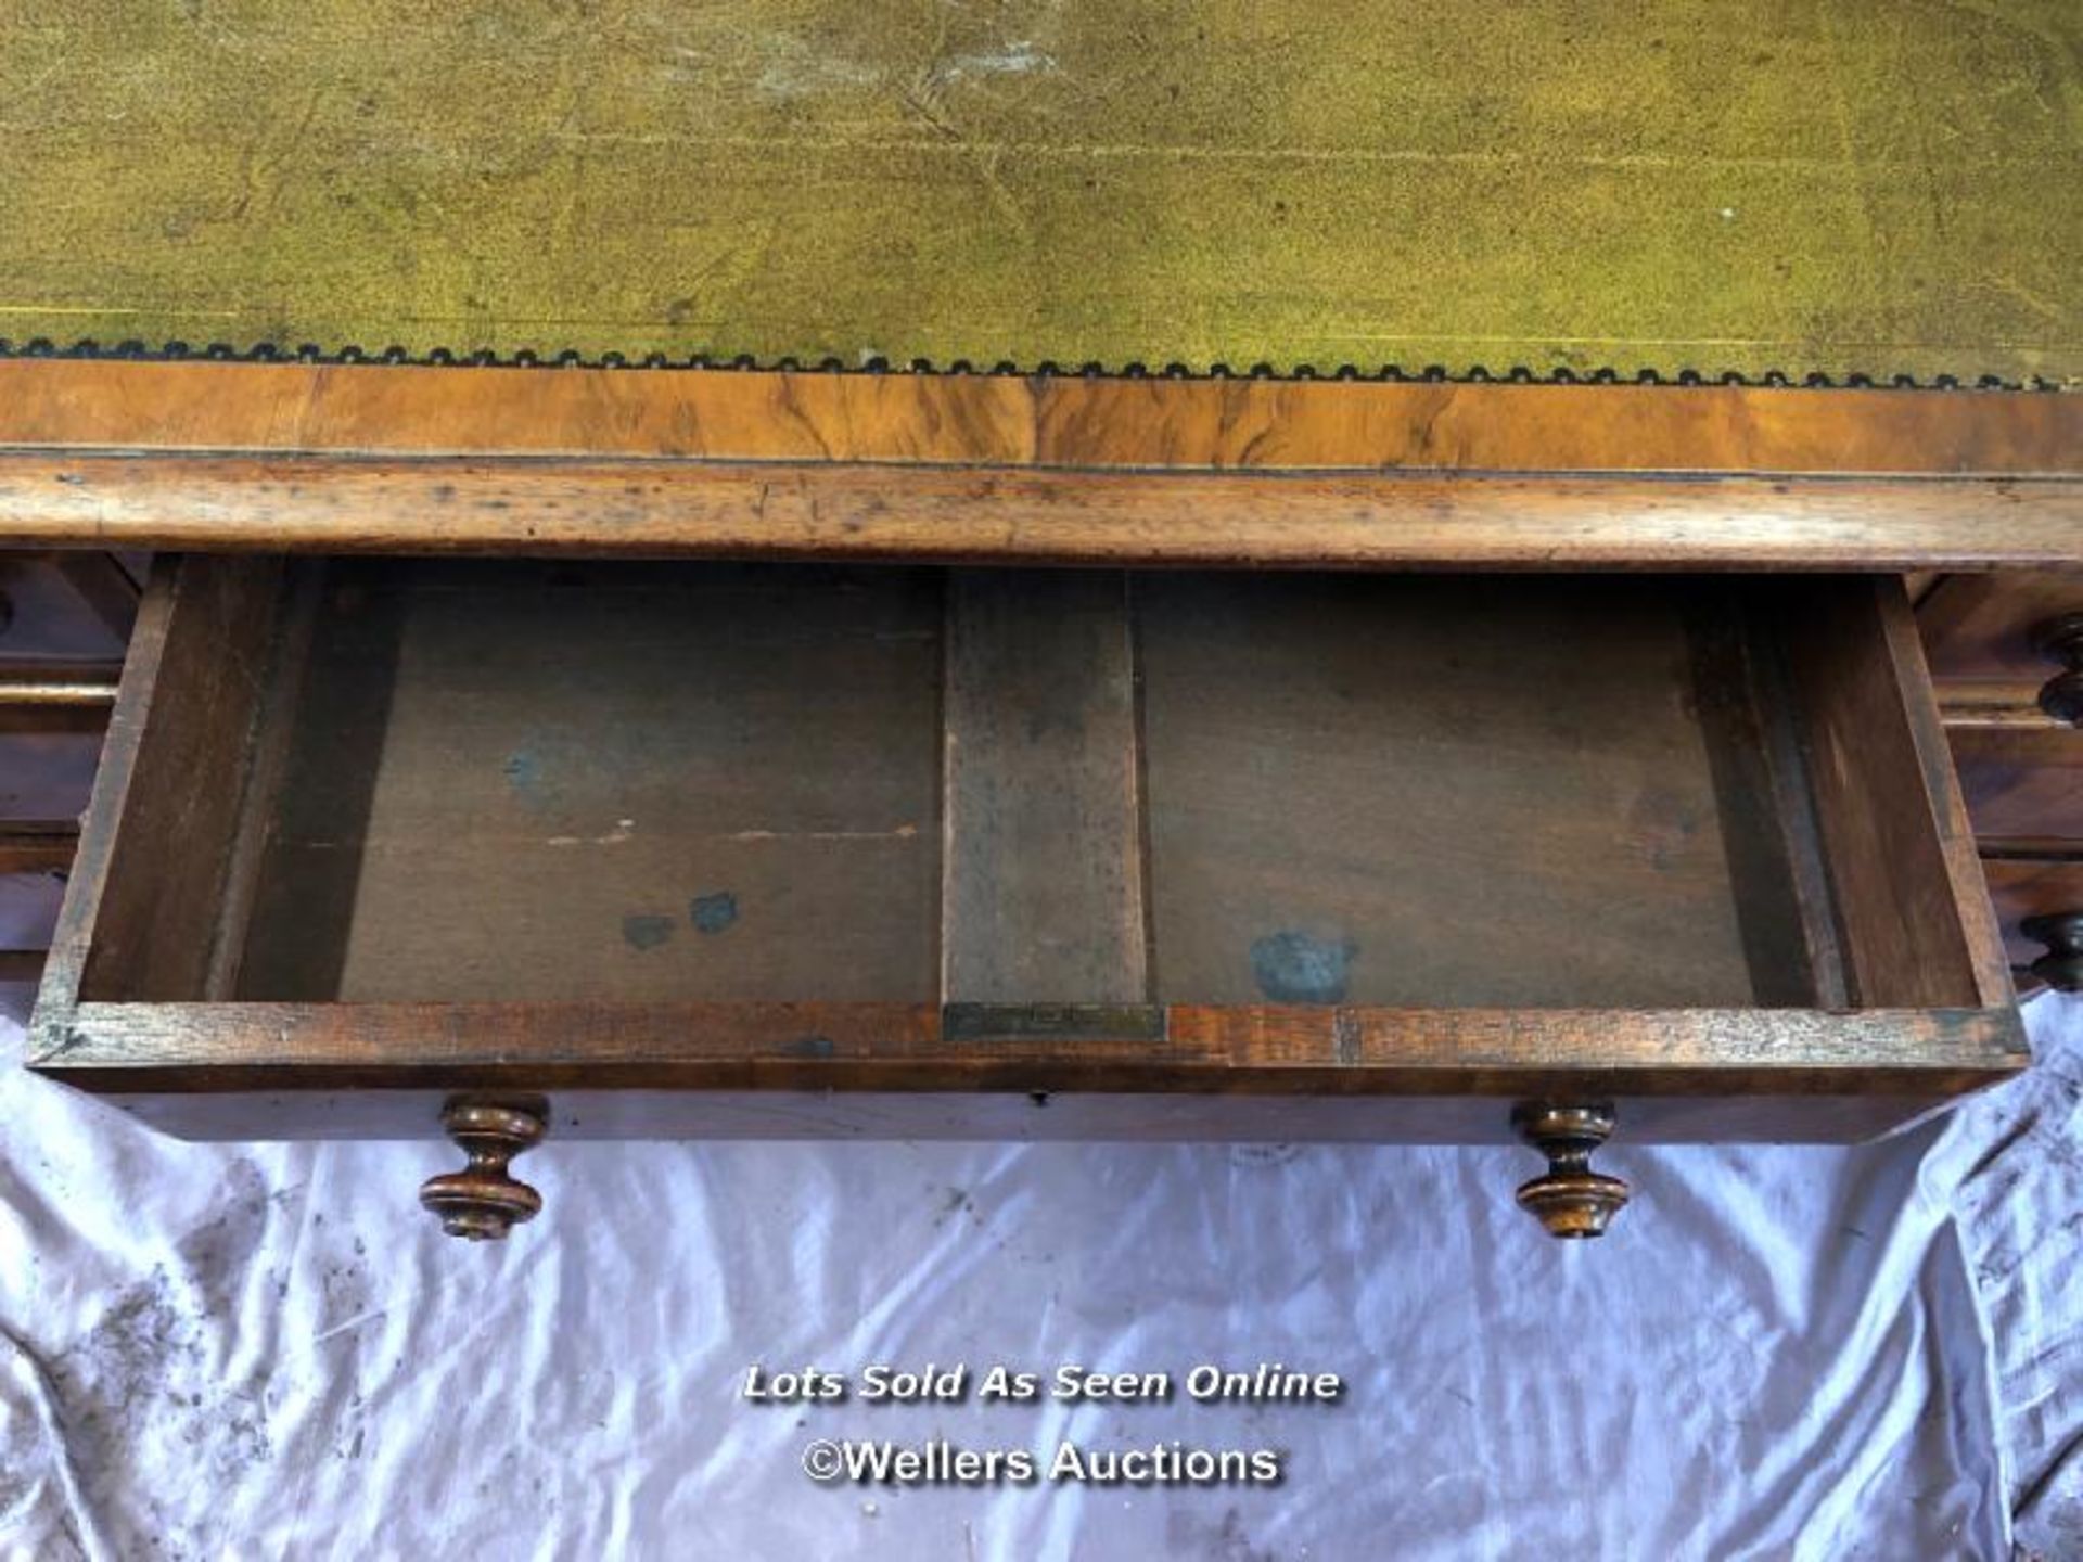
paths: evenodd
<path fill-rule="evenodd" d="M 1783 864 L 1735 893 L 1777 825 L 1718 785 L 1712 596 L 1148 573 L 1135 602 L 1160 998 L 1812 1002 L 1752 964 L 1746 923 L 1800 927 Z"/>

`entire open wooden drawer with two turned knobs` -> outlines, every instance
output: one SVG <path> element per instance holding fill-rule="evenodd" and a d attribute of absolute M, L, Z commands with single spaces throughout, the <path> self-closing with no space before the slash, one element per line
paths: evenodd
<path fill-rule="evenodd" d="M 1856 1139 L 2025 1062 L 1902 587 L 167 560 L 33 1066 L 175 1133 Z"/>

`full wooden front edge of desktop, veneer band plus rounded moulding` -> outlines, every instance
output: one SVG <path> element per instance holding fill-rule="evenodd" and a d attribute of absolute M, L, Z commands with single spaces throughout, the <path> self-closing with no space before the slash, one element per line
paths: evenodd
<path fill-rule="evenodd" d="M 1964 571 L 2077 479 L 2058 394 L 0 362 L 15 546 Z"/>

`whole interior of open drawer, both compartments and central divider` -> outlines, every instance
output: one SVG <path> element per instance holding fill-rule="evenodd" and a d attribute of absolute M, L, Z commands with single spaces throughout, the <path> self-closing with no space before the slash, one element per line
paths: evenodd
<path fill-rule="evenodd" d="M 85 1002 L 1979 1002 L 1871 581 L 181 569 Z"/>

